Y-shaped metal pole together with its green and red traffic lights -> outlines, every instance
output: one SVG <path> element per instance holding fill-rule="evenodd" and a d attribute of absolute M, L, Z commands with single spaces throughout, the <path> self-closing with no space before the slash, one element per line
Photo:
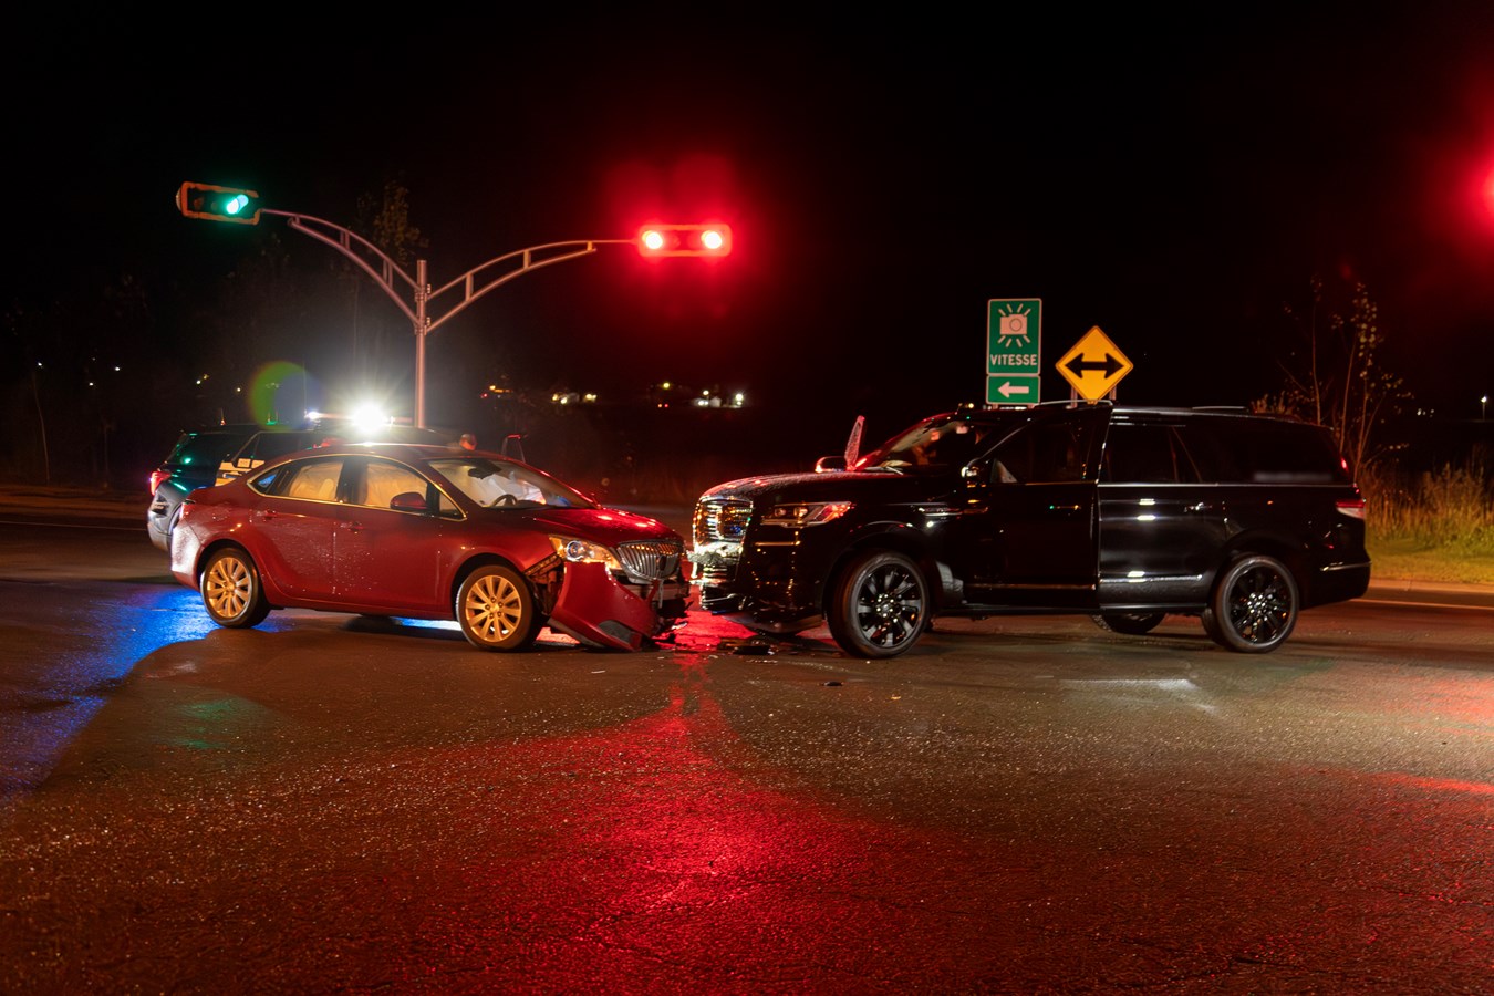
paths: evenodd
<path fill-rule="evenodd" d="M 720 257 L 732 251 L 732 230 L 729 225 L 644 225 L 632 239 L 572 239 L 569 242 L 547 242 L 532 245 L 527 249 L 515 249 L 503 255 L 493 257 L 487 263 L 474 266 L 471 270 L 453 281 L 430 290 L 426 282 L 426 260 L 415 260 L 415 276 L 409 276 L 399 263 L 385 255 L 376 245 L 350 231 L 342 225 L 311 215 L 299 215 L 290 211 L 272 211 L 260 206 L 260 196 L 251 190 L 236 190 L 229 187 L 214 187 L 209 184 L 185 182 L 176 193 L 176 208 L 187 218 L 206 218 L 211 221 L 235 221 L 239 224 L 257 224 L 258 217 L 278 215 L 287 224 L 323 242 L 374 278 L 394 305 L 405 312 L 415 330 L 415 426 L 426 427 L 426 336 L 439 329 L 447 320 L 466 311 L 468 305 L 496 290 L 523 273 L 538 270 L 554 263 L 575 260 L 592 255 L 599 245 L 632 245 L 644 255 L 696 255 Z M 372 257 L 372 261 L 365 257 Z M 378 269 L 374 269 L 374 264 Z M 509 266 L 512 269 L 498 273 L 489 279 L 495 267 Z M 487 279 L 487 284 L 480 284 Z M 462 290 L 462 300 L 447 314 L 432 318 L 430 302 L 447 291 Z M 405 294 L 409 296 L 406 303 Z"/>

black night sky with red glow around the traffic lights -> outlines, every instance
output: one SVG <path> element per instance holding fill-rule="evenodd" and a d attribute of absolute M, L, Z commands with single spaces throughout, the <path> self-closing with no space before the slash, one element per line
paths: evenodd
<path fill-rule="evenodd" d="M 1098 326 L 1135 364 L 1120 400 L 1242 405 L 1276 387 L 1262 330 L 1313 273 L 1364 281 L 1418 403 L 1469 418 L 1494 391 L 1488 3 L 493 9 L 30 15 L 0 299 L 197 279 L 244 233 L 182 218 L 187 179 L 351 224 L 396 178 L 435 284 L 650 220 L 735 233 L 714 264 L 605 246 L 493 291 L 427 339 L 438 414 L 483 369 L 886 435 L 982 400 L 986 302 L 1013 297 L 1043 300 L 1044 399 Z M 263 360 L 333 384 L 344 337 Z"/>

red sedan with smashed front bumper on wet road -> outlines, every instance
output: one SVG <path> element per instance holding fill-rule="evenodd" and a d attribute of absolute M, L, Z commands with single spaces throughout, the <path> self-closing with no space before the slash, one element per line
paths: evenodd
<path fill-rule="evenodd" d="M 294 452 L 193 491 L 172 573 L 220 626 L 276 608 L 456 620 L 481 650 L 548 626 L 638 650 L 680 626 L 684 539 L 526 463 L 432 445 Z"/>

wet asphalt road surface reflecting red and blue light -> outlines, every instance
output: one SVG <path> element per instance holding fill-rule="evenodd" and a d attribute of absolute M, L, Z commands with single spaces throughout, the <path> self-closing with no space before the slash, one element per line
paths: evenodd
<path fill-rule="evenodd" d="M 142 536 L 42 539 L 0 529 L 0 992 L 1494 980 L 1488 612 L 1313 611 L 1265 659 L 1183 618 L 492 656 L 217 630 Z"/>

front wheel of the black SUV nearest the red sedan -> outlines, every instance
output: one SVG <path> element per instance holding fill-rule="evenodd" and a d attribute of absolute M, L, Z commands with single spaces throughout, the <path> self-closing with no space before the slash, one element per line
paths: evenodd
<path fill-rule="evenodd" d="M 853 657 L 895 657 L 917 641 L 928 608 L 928 582 L 916 563 L 899 553 L 865 553 L 835 585 L 831 636 Z"/>

